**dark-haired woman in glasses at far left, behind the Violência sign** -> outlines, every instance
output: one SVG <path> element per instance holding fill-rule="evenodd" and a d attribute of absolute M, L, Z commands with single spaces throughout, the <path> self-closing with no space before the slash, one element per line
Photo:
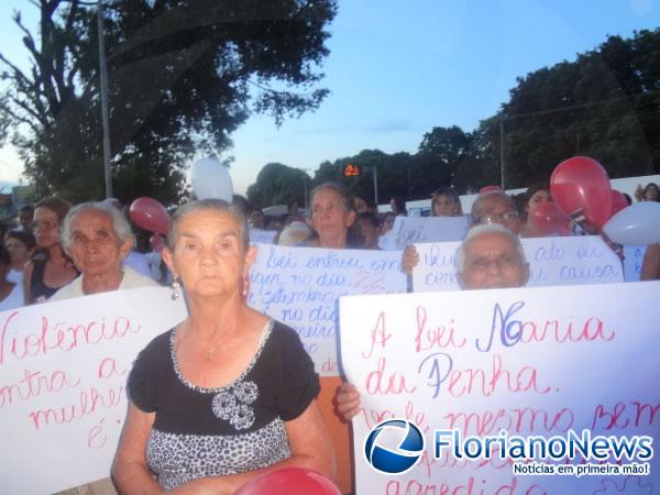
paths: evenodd
<path fill-rule="evenodd" d="M 32 231 L 41 255 L 25 265 L 25 304 L 44 302 L 59 288 L 78 276 L 59 239 L 59 226 L 70 205 L 59 198 L 45 198 L 36 204 Z"/>

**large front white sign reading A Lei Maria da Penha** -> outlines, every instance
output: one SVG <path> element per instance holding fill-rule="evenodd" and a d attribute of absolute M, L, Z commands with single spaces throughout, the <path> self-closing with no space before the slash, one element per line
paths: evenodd
<path fill-rule="evenodd" d="M 649 463 L 646 476 L 520 475 L 497 446 L 493 459 L 459 459 L 450 440 L 436 457 L 433 432 L 565 438 L 588 430 L 649 436 L 657 450 L 659 293 L 660 282 L 650 282 L 342 298 L 342 364 L 363 406 L 353 419 L 356 493 L 658 491 L 657 454 L 639 461 Z M 363 449 L 372 428 L 394 417 L 415 422 L 426 449 L 411 471 L 388 476 L 369 465 Z M 402 452 L 402 431 L 391 433 L 380 447 Z M 583 461 L 559 457 L 574 472 Z"/>

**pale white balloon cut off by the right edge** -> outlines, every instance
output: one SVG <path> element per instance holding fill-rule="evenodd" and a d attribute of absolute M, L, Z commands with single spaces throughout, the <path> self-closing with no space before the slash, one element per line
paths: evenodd
<path fill-rule="evenodd" d="M 660 202 L 641 201 L 630 205 L 607 220 L 603 231 L 617 244 L 660 243 Z"/>

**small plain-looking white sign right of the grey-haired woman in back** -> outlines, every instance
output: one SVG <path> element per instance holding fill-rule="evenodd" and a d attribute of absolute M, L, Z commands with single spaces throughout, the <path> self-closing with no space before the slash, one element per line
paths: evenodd
<path fill-rule="evenodd" d="M 396 217 L 394 227 L 381 238 L 378 246 L 400 251 L 418 242 L 460 241 L 468 227 L 468 217 Z"/>

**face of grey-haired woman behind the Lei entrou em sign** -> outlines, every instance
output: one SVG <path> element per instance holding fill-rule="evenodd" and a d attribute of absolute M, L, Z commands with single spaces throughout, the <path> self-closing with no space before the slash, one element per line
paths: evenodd
<path fill-rule="evenodd" d="M 333 189 L 321 189 L 314 196 L 311 227 L 319 234 L 322 248 L 345 240 L 349 228 L 355 221 L 355 212 L 344 210 L 342 197 Z"/>

